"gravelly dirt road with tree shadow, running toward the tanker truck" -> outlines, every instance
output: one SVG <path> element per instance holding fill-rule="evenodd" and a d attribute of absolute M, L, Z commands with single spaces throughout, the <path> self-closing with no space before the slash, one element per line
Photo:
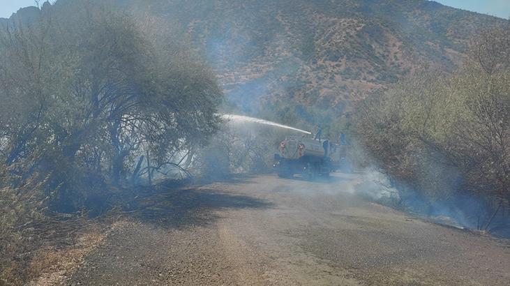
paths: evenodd
<path fill-rule="evenodd" d="M 507 241 L 362 200 L 359 181 L 260 176 L 160 193 L 66 283 L 509 285 Z"/>

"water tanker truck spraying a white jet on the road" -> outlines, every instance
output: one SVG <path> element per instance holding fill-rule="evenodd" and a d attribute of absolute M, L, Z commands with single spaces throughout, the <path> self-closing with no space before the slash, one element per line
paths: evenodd
<path fill-rule="evenodd" d="M 338 170 L 350 172 L 346 145 L 333 144 L 329 140 L 306 137 L 287 137 L 274 154 L 273 167 L 278 176 L 289 178 L 301 174 L 313 180 L 317 176 L 329 176 Z"/>

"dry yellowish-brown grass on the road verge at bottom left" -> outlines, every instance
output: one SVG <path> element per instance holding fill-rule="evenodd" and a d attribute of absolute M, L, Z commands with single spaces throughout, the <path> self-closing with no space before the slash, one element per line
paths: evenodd
<path fill-rule="evenodd" d="M 56 285 L 63 283 L 84 257 L 105 238 L 112 220 L 72 219 L 31 223 L 27 236 L 2 241 L 0 285 Z"/>

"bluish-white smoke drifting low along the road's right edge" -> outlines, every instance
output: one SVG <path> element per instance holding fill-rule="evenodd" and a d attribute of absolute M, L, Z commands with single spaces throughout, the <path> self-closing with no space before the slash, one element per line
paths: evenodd
<path fill-rule="evenodd" d="M 461 229 L 479 229 L 483 220 L 483 202 L 477 197 L 456 195 L 454 192 L 441 190 L 438 194 L 427 194 L 416 187 L 405 185 L 384 174 L 366 151 L 353 140 L 350 155 L 355 165 L 351 183 L 334 184 L 333 190 L 363 197 L 366 200 L 390 206 L 394 209 L 412 213 L 414 216 Z M 444 174 L 456 181 L 453 170 L 444 170 L 438 165 L 430 164 L 430 172 L 423 172 L 423 181 L 437 180 L 436 174 Z M 340 170 L 341 172 L 341 170 Z M 333 175 L 335 176 L 335 175 Z M 351 175 L 341 175 L 351 178 Z M 331 182 L 330 182 L 331 183 Z M 450 195 L 445 195 L 449 193 Z M 446 198 L 445 198 L 446 197 Z"/>

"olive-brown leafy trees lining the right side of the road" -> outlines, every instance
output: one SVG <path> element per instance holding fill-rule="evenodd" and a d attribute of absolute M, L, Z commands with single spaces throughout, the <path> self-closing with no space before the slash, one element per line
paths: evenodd
<path fill-rule="evenodd" d="M 480 29 L 453 75 L 423 68 L 368 98 L 354 132 L 403 194 L 460 204 L 496 231 L 509 227 L 509 107 L 507 22 Z"/>

